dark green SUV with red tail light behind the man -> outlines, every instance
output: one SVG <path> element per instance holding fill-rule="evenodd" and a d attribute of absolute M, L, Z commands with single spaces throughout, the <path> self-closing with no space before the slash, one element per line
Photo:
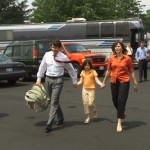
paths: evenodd
<path fill-rule="evenodd" d="M 22 62 L 26 65 L 27 78 L 37 74 L 42 57 L 50 50 L 50 40 L 14 41 L 9 44 L 4 54 L 15 62 Z"/>

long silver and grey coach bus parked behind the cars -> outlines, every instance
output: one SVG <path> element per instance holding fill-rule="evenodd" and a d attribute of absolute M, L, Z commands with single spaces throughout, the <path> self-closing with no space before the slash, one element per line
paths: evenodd
<path fill-rule="evenodd" d="M 67 22 L 0 25 L 0 42 L 24 40 L 53 40 L 80 42 L 92 51 L 109 57 L 115 41 L 131 43 L 134 50 L 141 40 L 147 42 L 145 27 L 141 19 L 86 21 L 72 19 Z"/>

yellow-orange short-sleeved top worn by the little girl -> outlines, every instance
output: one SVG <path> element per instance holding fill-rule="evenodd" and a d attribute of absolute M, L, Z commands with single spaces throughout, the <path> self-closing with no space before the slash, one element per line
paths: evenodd
<path fill-rule="evenodd" d="M 95 88 L 95 77 L 98 76 L 97 72 L 93 69 L 90 70 L 88 74 L 85 73 L 85 70 L 82 70 L 81 77 L 83 77 L 83 87 L 86 89 Z"/>

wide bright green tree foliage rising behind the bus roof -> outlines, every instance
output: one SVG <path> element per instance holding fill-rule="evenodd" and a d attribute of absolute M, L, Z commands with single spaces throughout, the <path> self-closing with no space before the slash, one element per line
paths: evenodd
<path fill-rule="evenodd" d="M 34 22 L 139 17 L 143 8 L 137 0 L 35 0 L 33 6 Z"/>

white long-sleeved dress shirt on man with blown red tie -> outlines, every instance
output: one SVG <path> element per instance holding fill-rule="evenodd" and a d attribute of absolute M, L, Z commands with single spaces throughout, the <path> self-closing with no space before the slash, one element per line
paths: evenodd
<path fill-rule="evenodd" d="M 62 52 L 58 52 L 56 58 L 62 61 L 69 61 L 68 57 Z M 64 75 L 64 69 L 67 69 L 73 84 L 77 83 L 77 73 L 75 72 L 71 63 L 59 63 L 54 60 L 54 54 L 52 51 L 46 52 L 43 56 L 39 70 L 37 73 L 37 81 L 41 82 L 41 78 L 45 72 L 47 76 L 58 77 Z"/>

